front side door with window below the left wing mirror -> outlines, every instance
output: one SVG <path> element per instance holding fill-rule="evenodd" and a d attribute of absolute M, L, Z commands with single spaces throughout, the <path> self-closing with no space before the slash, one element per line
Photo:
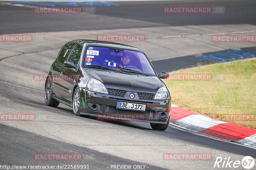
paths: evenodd
<path fill-rule="evenodd" d="M 68 57 L 68 61 L 73 61 L 75 65 L 81 57 L 83 50 L 83 45 L 77 44 Z M 64 65 L 61 68 L 61 81 L 60 81 L 60 97 L 68 103 L 72 103 L 72 92 L 74 87 L 74 82 L 77 74 L 79 73 L 78 68 L 68 68 Z"/>

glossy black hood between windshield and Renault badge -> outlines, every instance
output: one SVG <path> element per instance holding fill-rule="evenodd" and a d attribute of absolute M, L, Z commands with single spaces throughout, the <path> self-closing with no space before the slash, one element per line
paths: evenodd
<path fill-rule="evenodd" d="M 106 70 L 87 71 L 92 78 L 101 81 L 107 89 L 119 89 L 133 92 L 156 93 L 165 86 L 156 76 L 141 74 L 123 74 Z"/>

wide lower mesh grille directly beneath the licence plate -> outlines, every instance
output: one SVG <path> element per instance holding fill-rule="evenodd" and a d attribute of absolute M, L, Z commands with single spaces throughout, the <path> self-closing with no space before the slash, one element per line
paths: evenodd
<path fill-rule="evenodd" d="M 145 112 L 136 111 L 136 110 L 125 110 L 125 109 L 116 109 L 115 106 L 105 106 L 105 113 L 112 113 L 117 115 L 127 115 L 127 116 L 136 116 L 136 117 L 153 117 L 153 110 L 146 110 Z"/>

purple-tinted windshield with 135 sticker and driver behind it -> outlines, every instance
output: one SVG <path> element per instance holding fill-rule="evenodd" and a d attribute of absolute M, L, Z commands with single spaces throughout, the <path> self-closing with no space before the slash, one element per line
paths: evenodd
<path fill-rule="evenodd" d="M 147 57 L 141 52 L 108 47 L 87 47 L 84 67 L 98 66 L 118 69 L 124 73 L 143 73 L 155 75 Z"/>

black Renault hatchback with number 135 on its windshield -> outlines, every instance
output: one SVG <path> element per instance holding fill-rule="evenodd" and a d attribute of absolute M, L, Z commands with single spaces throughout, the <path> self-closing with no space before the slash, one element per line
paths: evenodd
<path fill-rule="evenodd" d="M 64 103 L 74 114 L 97 120 L 149 122 L 164 131 L 171 96 L 140 49 L 119 43 L 75 40 L 65 44 L 45 81 L 45 103 Z"/>

